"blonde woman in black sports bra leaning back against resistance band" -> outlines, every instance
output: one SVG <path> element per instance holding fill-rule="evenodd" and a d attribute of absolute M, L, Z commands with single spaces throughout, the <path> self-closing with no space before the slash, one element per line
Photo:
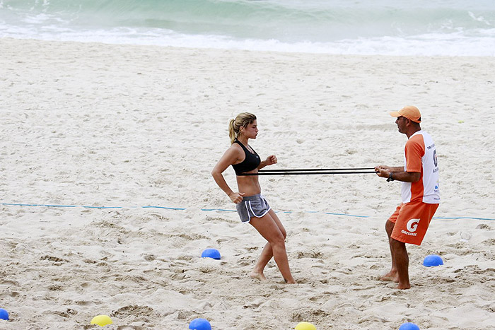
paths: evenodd
<path fill-rule="evenodd" d="M 285 248 L 285 228 L 279 217 L 270 208 L 267 200 L 261 195 L 258 176 L 240 175 L 243 173 L 257 173 L 258 170 L 265 166 L 276 164 L 276 157 L 275 155 L 269 155 L 266 160 L 261 161 L 256 151 L 249 146 L 249 139 L 256 139 L 258 134 L 254 114 L 243 112 L 238 114 L 235 119 L 231 119 L 228 125 L 228 134 L 231 137 L 231 147 L 216 163 L 211 175 L 214 177 L 216 184 L 236 204 L 240 220 L 243 223 L 250 223 L 268 241 L 250 276 L 260 281 L 267 281 L 263 270 L 268 261 L 274 257 L 286 283 L 294 284 L 296 281 L 292 277 Z M 231 165 L 237 175 L 239 191 L 233 191 L 228 187 L 222 175 L 223 171 Z"/>

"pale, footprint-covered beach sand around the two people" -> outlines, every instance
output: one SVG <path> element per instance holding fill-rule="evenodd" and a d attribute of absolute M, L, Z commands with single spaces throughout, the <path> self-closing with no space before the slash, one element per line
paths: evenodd
<path fill-rule="evenodd" d="M 257 114 L 272 168 L 402 165 L 389 110 L 422 111 L 436 141 L 437 217 L 495 218 L 493 57 L 351 57 L 0 39 L 0 329 L 495 327 L 495 222 L 435 219 L 390 268 L 400 183 L 375 175 L 262 177 L 298 285 L 248 277 L 264 241 L 209 175 L 227 122 Z M 233 170 L 226 179 L 235 187 Z M 138 206 L 138 207 L 136 207 Z M 163 206 L 186 208 L 174 211 Z M 291 213 L 284 213 L 291 211 Z M 310 213 L 308 211 L 316 211 Z M 339 216 L 328 213 L 345 213 Z M 220 261 L 202 259 L 213 247 Z M 426 268 L 428 254 L 445 264 Z"/>

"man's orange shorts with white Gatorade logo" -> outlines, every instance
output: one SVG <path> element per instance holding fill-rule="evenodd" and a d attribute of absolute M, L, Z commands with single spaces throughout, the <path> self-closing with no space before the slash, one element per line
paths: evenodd
<path fill-rule="evenodd" d="M 438 204 L 422 201 L 401 203 L 388 218 L 390 222 L 395 223 L 391 237 L 400 242 L 421 245 L 437 208 Z"/>

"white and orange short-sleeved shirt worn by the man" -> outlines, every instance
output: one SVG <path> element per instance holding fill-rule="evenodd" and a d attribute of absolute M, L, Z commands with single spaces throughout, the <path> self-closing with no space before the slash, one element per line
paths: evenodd
<path fill-rule="evenodd" d="M 418 182 L 402 182 L 402 203 L 440 203 L 438 160 L 430 134 L 417 131 L 409 137 L 404 148 L 404 171 L 421 172 L 421 179 Z"/>

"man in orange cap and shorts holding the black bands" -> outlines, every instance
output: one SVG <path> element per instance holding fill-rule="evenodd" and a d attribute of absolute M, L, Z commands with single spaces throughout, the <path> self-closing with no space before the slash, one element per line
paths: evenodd
<path fill-rule="evenodd" d="M 404 166 L 378 165 L 375 171 L 388 182 L 402 181 L 402 203 L 388 218 L 385 230 L 388 234 L 392 269 L 380 278 L 399 283 L 398 289 L 409 289 L 409 256 L 406 243 L 421 245 L 426 230 L 440 203 L 438 189 L 438 162 L 433 139 L 421 130 L 421 113 L 408 105 L 390 112 L 397 117 L 399 132 L 406 134 Z"/>

